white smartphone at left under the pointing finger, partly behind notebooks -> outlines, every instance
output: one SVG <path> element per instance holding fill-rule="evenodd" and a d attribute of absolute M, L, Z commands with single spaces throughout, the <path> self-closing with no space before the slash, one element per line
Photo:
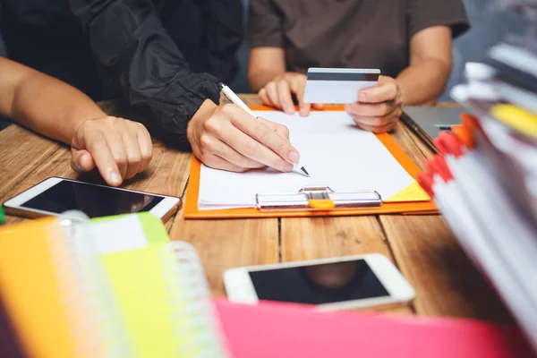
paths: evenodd
<path fill-rule="evenodd" d="M 51 177 L 4 202 L 5 211 L 23 217 L 80 210 L 88 217 L 149 211 L 166 221 L 182 205 L 179 198 Z"/>

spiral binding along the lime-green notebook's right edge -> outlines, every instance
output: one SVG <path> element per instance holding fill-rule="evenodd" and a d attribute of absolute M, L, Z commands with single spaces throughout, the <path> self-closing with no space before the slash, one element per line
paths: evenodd
<path fill-rule="evenodd" d="M 172 242 L 162 249 L 161 256 L 173 318 L 189 323 L 175 328 L 177 355 L 229 356 L 217 311 L 210 301 L 209 283 L 195 249 L 189 243 Z M 192 337 L 192 332 L 195 339 L 186 341 L 183 337 Z"/>

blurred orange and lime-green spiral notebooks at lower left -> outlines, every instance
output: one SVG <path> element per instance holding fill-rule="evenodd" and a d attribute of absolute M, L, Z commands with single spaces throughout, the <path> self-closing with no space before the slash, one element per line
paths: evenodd
<path fill-rule="evenodd" d="M 147 213 L 3 227 L 0 298 L 31 357 L 227 355 L 196 252 Z"/>

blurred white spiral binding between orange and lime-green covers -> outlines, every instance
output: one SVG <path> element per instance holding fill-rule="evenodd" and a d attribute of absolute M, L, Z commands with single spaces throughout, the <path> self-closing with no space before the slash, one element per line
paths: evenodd
<path fill-rule="evenodd" d="M 47 240 L 72 327 L 76 357 L 132 356 L 105 268 L 88 226 L 70 219 L 49 226 Z"/>

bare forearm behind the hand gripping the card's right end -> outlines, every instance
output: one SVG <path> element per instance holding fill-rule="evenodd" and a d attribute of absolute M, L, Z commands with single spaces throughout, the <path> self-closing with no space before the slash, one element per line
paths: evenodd
<path fill-rule="evenodd" d="M 405 106 L 430 106 L 446 87 L 450 64 L 438 59 L 424 59 L 401 72 L 396 82 Z"/>

